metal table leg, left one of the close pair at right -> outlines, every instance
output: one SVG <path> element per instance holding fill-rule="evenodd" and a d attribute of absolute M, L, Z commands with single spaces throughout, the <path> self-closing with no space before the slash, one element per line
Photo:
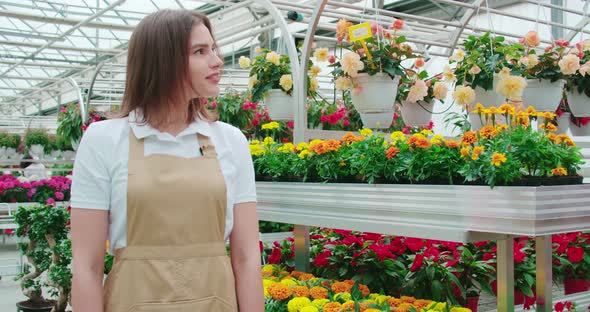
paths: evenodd
<path fill-rule="evenodd" d="M 514 312 L 514 239 L 497 240 L 498 312 Z"/>

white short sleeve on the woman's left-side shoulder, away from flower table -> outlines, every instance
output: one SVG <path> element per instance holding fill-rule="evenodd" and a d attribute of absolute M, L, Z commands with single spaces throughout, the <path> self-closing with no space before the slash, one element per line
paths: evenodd
<path fill-rule="evenodd" d="M 76 152 L 72 175 L 72 208 L 109 210 L 111 178 L 107 167 L 107 137 L 99 123 L 91 124 Z"/>

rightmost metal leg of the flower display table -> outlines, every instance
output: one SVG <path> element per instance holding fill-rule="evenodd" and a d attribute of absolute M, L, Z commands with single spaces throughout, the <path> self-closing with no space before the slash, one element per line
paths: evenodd
<path fill-rule="evenodd" d="M 535 238 L 537 254 L 537 311 L 553 311 L 551 283 L 553 281 L 553 259 L 551 235 Z"/>

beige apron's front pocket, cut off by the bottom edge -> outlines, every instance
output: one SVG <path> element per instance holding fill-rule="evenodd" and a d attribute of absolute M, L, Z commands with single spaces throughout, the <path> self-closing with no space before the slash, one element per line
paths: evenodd
<path fill-rule="evenodd" d="M 162 302 L 162 303 L 141 303 L 133 305 L 128 312 L 237 312 L 237 307 L 227 301 L 216 297 L 205 297 L 196 300 Z"/>

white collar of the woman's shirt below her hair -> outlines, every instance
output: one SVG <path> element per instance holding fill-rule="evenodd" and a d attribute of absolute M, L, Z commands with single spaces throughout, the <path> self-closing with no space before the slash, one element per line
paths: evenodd
<path fill-rule="evenodd" d="M 211 124 L 207 121 L 197 119 L 190 123 L 188 127 L 182 130 L 176 137 L 167 132 L 161 132 L 158 129 L 153 128 L 147 123 L 140 123 L 138 120 L 141 119 L 141 113 L 132 111 L 129 113 L 129 125 L 133 130 L 133 134 L 138 139 L 143 139 L 149 136 L 156 136 L 159 139 L 173 140 L 178 137 L 185 135 L 194 135 L 200 133 L 202 135 L 211 136 Z"/>

